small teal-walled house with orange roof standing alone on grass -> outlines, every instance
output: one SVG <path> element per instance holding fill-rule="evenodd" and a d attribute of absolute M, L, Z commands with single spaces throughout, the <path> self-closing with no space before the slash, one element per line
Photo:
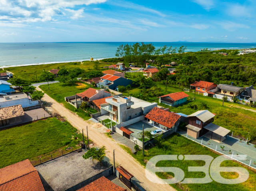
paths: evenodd
<path fill-rule="evenodd" d="M 167 95 L 163 95 L 158 97 L 159 98 L 159 103 L 163 103 L 166 105 L 170 105 L 172 107 L 176 107 L 180 104 L 183 104 L 187 101 L 187 95 L 184 92 L 176 92 L 176 93 L 170 93 Z"/>

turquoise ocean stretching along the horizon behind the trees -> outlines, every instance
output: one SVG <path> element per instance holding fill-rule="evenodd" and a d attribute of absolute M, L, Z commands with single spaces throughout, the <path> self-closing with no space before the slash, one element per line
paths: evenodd
<path fill-rule="evenodd" d="M 134 42 L 49 42 L 49 43 L 0 43 L 0 67 L 84 61 L 115 57 L 121 44 Z M 199 42 L 152 42 L 156 48 L 167 45 L 186 46 L 186 51 L 200 49 L 255 48 L 256 43 L 199 43 Z"/>

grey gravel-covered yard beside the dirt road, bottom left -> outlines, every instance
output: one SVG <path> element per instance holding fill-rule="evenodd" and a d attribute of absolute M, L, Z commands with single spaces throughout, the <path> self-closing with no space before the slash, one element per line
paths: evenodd
<path fill-rule="evenodd" d="M 44 189 L 63 191 L 107 169 L 82 158 L 85 152 L 73 152 L 36 166 Z"/>

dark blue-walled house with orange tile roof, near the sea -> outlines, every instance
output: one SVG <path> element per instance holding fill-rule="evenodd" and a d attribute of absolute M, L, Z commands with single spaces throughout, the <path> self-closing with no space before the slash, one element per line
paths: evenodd
<path fill-rule="evenodd" d="M 97 83 L 97 87 L 104 87 L 112 90 L 116 89 L 118 86 L 127 85 L 132 85 L 132 80 L 110 74 L 100 77 L 100 81 Z"/>

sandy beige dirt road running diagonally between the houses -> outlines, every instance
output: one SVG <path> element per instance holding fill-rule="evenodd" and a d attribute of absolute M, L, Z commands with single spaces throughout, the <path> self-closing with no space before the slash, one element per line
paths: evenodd
<path fill-rule="evenodd" d="M 41 91 L 40 88 L 36 88 Z M 115 161 L 117 164 L 122 165 L 127 169 L 134 177 L 136 177 L 140 182 L 142 187 L 147 191 L 176 191 L 170 185 L 161 185 L 152 183 L 145 176 L 145 168 L 140 165 L 132 156 L 130 156 L 126 151 L 124 151 L 120 146 L 111 138 L 108 138 L 104 132 L 106 128 L 99 123 L 94 123 L 92 121 L 84 121 L 82 118 L 65 108 L 62 104 L 56 102 L 47 94 L 44 95 L 42 100 L 46 101 L 50 105 L 50 110 L 59 113 L 61 116 L 66 117 L 66 119 L 80 132 L 84 129 L 86 132 L 86 126 L 88 126 L 88 137 L 96 143 L 98 146 L 106 146 L 107 152 L 106 156 L 113 159 L 113 150 L 115 150 Z"/>

